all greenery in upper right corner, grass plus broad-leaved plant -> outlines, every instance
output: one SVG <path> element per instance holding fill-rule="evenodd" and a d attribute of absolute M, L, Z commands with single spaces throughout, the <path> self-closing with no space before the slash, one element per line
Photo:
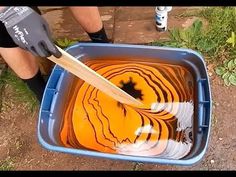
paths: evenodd
<path fill-rule="evenodd" d="M 203 29 L 202 21 L 196 20 L 187 29 L 170 30 L 169 40 L 155 41 L 151 45 L 198 51 L 207 62 L 220 65 L 215 71 L 226 85 L 236 85 L 236 7 L 208 7 L 196 12 L 195 16 L 205 18 L 207 28 Z"/>

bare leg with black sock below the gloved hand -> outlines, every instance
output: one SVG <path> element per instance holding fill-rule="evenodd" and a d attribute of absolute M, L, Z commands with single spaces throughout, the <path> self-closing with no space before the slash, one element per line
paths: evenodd
<path fill-rule="evenodd" d="M 46 82 L 41 75 L 36 57 L 19 47 L 0 47 L 0 55 L 41 101 Z"/>

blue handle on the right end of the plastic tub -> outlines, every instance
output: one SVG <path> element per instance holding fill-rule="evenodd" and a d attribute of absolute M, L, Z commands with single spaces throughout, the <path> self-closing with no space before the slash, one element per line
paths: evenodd
<path fill-rule="evenodd" d="M 207 79 L 198 80 L 198 130 L 209 127 L 210 93 Z"/>

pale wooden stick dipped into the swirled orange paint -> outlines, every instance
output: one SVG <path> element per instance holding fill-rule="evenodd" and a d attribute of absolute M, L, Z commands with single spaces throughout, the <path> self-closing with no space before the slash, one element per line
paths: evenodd
<path fill-rule="evenodd" d="M 96 87 L 105 94 L 111 96 L 113 99 L 128 105 L 141 106 L 142 103 L 136 100 L 134 97 L 108 81 L 97 72 L 89 68 L 87 65 L 80 62 L 78 59 L 58 47 L 58 50 L 62 53 L 60 58 L 56 58 L 53 55 L 48 57 L 49 60 L 53 61 L 57 65 L 83 79 L 85 82 Z"/>

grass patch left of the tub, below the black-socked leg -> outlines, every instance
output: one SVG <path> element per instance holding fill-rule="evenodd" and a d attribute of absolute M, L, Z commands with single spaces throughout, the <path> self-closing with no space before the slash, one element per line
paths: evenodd
<path fill-rule="evenodd" d="M 31 112 L 35 111 L 39 105 L 36 96 L 10 69 L 4 69 L 0 75 L 0 86 L 6 87 L 7 85 L 13 88 L 14 99 L 17 102 L 26 104 Z M 4 94 L 1 96 L 4 96 Z"/>

